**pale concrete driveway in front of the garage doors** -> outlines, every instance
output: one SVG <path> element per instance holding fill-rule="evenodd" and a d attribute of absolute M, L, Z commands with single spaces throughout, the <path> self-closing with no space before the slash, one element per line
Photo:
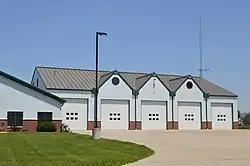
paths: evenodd
<path fill-rule="evenodd" d="M 155 155 L 129 166 L 248 166 L 250 131 L 102 131 L 102 137 L 144 144 Z"/>

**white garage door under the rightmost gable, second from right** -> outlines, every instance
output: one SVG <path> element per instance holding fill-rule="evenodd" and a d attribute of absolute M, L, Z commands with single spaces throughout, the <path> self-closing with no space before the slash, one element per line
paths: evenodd
<path fill-rule="evenodd" d="M 201 104 L 178 102 L 179 129 L 201 129 Z"/>

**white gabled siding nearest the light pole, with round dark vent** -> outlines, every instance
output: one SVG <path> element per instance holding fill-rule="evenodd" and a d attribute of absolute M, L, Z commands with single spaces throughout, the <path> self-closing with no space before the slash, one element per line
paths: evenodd
<path fill-rule="evenodd" d="M 112 84 L 112 78 L 117 77 L 120 80 L 118 85 Z M 101 99 L 116 99 L 116 100 L 128 100 L 129 110 L 130 110 L 130 121 L 135 120 L 135 109 L 132 90 L 127 86 L 127 84 L 119 77 L 119 75 L 111 76 L 99 89 L 98 96 L 98 114 L 100 115 Z"/>

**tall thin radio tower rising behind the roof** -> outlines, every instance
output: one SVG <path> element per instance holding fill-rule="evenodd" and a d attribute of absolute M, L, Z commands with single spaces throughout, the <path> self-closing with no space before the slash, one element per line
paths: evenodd
<path fill-rule="evenodd" d="M 210 69 L 203 68 L 203 50 L 202 50 L 202 15 L 199 15 L 199 54 L 200 54 L 200 77 L 203 77 L 203 72 L 209 71 Z"/>

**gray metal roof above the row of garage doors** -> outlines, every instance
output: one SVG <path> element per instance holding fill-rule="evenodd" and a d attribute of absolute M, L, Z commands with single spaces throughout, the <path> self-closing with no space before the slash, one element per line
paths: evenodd
<path fill-rule="evenodd" d="M 72 68 L 36 67 L 47 89 L 92 90 L 95 87 L 95 71 Z M 117 72 L 117 71 L 116 71 Z M 99 85 L 112 76 L 114 71 L 99 71 Z M 151 77 L 150 73 L 118 72 L 134 90 L 140 89 Z M 176 91 L 187 76 L 156 74 L 160 81 L 171 91 Z M 205 93 L 210 95 L 237 96 L 218 85 L 200 77 L 191 76 Z"/>

